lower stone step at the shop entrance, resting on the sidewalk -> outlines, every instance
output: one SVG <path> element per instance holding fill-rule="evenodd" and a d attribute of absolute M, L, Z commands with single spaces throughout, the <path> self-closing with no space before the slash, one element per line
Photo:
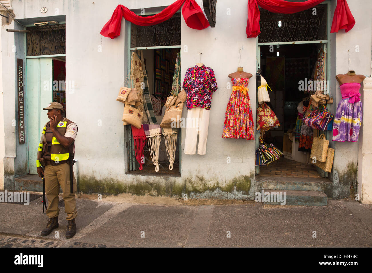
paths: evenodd
<path fill-rule="evenodd" d="M 282 196 L 283 205 L 295 205 L 295 206 L 326 206 L 327 205 L 327 195 L 321 191 L 292 191 L 292 190 L 278 190 L 278 189 L 263 189 L 264 195 L 267 195 L 266 192 L 270 193 L 270 202 L 264 200 L 266 205 L 281 205 L 280 200 L 273 198 L 274 196 Z M 273 194 L 271 194 L 273 193 Z M 284 198 L 285 193 L 285 198 Z M 260 192 L 262 195 L 262 191 Z M 273 195 L 273 197 L 271 197 Z M 259 201 L 262 201 L 259 200 Z M 285 204 L 284 204 L 285 203 Z"/>

